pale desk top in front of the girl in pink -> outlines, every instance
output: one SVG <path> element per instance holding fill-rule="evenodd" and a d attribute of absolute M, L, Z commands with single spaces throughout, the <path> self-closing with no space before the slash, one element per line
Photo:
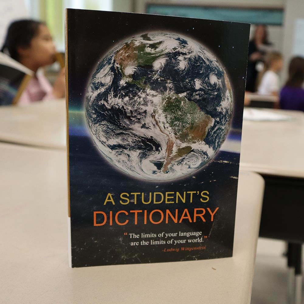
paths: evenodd
<path fill-rule="evenodd" d="M 0 107 L 0 141 L 65 149 L 65 100 Z"/>

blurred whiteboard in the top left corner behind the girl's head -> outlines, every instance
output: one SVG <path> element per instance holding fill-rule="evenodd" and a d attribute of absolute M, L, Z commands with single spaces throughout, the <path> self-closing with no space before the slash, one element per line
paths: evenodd
<path fill-rule="evenodd" d="M 9 24 L 16 19 L 29 18 L 24 0 L 0 0 L 0 49 Z"/>

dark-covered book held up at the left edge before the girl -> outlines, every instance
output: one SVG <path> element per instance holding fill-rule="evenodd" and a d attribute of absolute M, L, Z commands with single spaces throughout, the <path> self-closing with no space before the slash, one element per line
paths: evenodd
<path fill-rule="evenodd" d="M 0 52 L 0 105 L 12 105 L 18 102 L 33 71 Z"/>

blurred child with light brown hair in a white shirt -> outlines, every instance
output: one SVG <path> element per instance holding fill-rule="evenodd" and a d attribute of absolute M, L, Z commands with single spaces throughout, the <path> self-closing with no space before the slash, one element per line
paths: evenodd
<path fill-rule="evenodd" d="M 257 78 L 257 92 L 261 95 L 278 96 L 280 79 L 278 72 L 283 67 L 283 58 L 279 52 L 270 52 L 266 55 L 264 68 Z"/>

